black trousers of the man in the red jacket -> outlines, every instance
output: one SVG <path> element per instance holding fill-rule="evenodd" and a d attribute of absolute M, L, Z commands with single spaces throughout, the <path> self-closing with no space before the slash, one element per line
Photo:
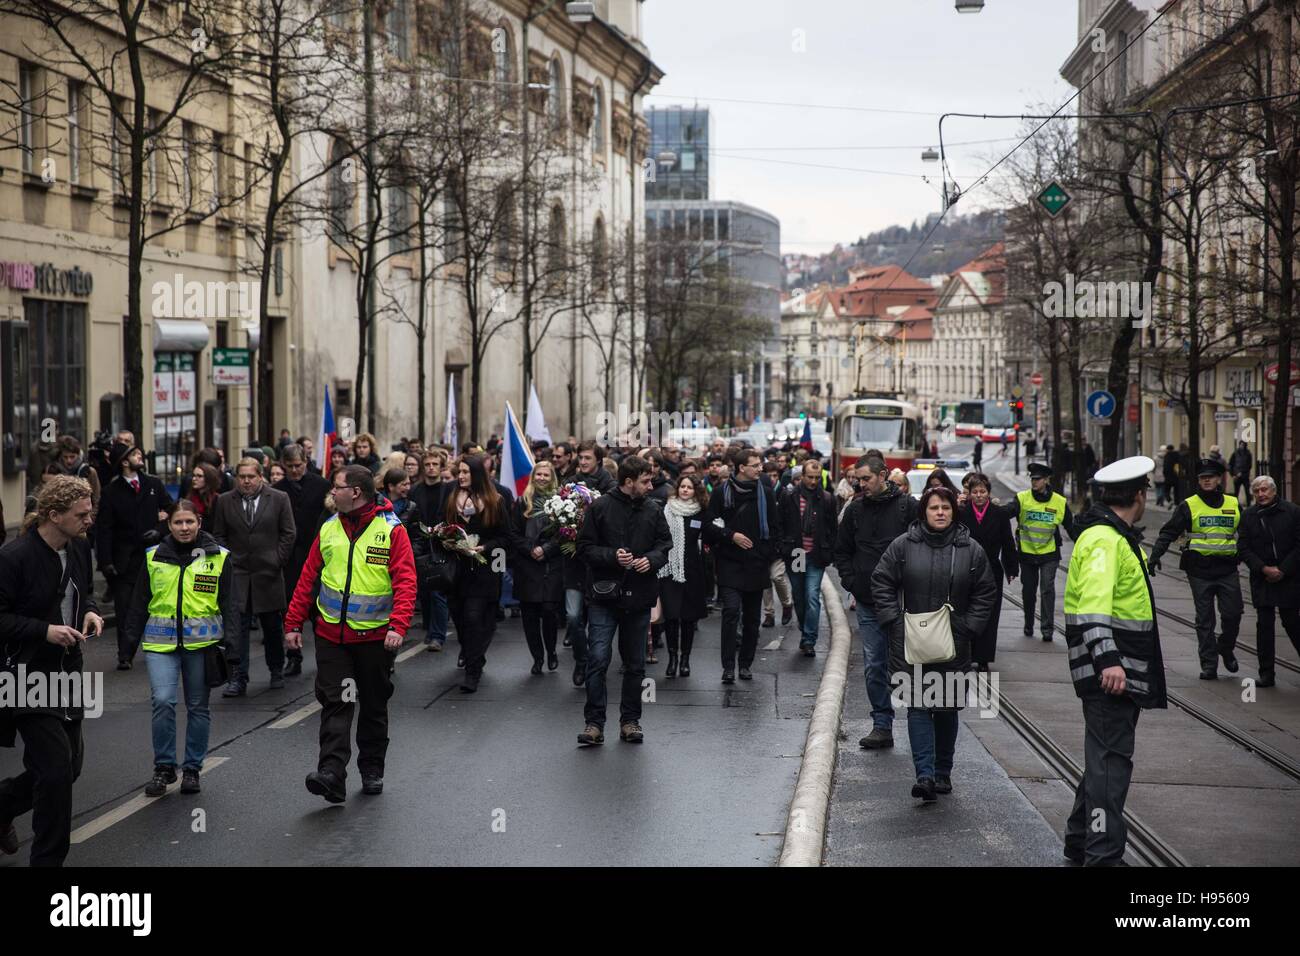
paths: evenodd
<path fill-rule="evenodd" d="M 385 630 L 385 633 L 387 631 Z M 384 641 L 334 644 L 316 637 L 316 700 L 321 705 L 321 753 L 317 769 L 347 778 L 352 758 L 352 714 L 356 721 L 356 769 L 384 777 L 389 752 L 389 697 L 393 652 Z"/>

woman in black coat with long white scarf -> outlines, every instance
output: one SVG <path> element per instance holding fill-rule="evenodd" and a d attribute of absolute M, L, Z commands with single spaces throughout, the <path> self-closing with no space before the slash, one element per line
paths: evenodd
<path fill-rule="evenodd" d="M 705 554 L 701 548 L 703 512 L 708 507 L 705 483 L 694 475 L 677 479 L 663 516 L 672 535 L 668 563 L 659 570 L 659 600 L 668 640 L 666 678 L 690 676 L 690 650 L 696 643 L 696 623 L 707 614 Z M 680 648 L 680 656 L 679 656 Z M 679 670 L 680 666 L 680 670 Z"/>

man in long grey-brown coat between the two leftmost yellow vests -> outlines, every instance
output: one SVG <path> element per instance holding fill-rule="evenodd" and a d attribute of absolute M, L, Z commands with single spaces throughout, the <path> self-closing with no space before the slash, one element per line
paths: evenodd
<path fill-rule="evenodd" d="M 239 633 L 230 645 L 238 661 L 230 662 L 230 683 L 222 697 L 242 697 L 248 689 L 248 631 L 257 615 L 270 687 L 285 685 L 283 567 L 294 551 L 294 507 L 289 496 L 277 492 L 261 476 L 256 458 L 242 458 L 235 467 L 235 486 L 217 498 L 212 536 L 230 549 L 231 581 L 239 607 Z"/>

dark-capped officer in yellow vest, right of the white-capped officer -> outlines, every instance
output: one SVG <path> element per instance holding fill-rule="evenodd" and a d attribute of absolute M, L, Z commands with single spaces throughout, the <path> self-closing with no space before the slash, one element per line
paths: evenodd
<path fill-rule="evenodd" d="M 1242 525 L 1242 509 L 1235 496 L 1223 494 L 1223 463 L 1202 458 L 1196 468 L 1200 490 L 1174 509 L 1174 515 L 1160 529 L 1150 549 L 1150 567 L 1160 570 L 1160 559 L 1174 540 L 1187 535 L 1187 544 L 1178 567 L 1187 572 L 1196 604 L 1196 643 L 1200 645 L 1201 680 L 1218 678 L 1218 659 L 1236 674 L 1236 633 L 1242 627 L 1242 579 L 1236 575 L 1240 561 L 1236 533 Z M 1218 600 L 1223 633 L 1214 637 L 1214 601 Z"/>

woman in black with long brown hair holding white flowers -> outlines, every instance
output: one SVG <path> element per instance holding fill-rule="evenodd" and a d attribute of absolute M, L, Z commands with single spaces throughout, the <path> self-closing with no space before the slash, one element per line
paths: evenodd
<path fill-rule="evenodd" d="M 447 496 L 443 520 L 459 524 L 465 533 L 478 537 L 474 551 L 481 559 L 460 558 L 460 580 L 455 593 L 450 596 L 451 618 L 456 624 L 465 661 L 460 689 L 463 693 L 473 693 L 482 679 L 488 648 L 497 630 L 497 602 L 500 601 L 500 579 L 504 571 L 504 563 L 498 555 L 510 555 L 515 550 L 510 511 L 488 477 L 482 455 L 465 455 L 460 459 L 456 489 Z"/>

